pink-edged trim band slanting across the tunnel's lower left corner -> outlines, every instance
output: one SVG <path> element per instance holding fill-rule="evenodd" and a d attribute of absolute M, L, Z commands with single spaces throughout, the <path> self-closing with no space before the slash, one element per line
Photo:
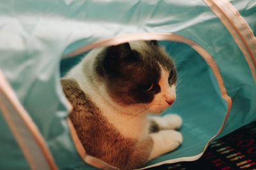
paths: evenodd
<path fill-rule="evenodd" d="M 0 108 L 31 169 L 58 169 L 40 131 L 19 103 L 1 70 Z"/>

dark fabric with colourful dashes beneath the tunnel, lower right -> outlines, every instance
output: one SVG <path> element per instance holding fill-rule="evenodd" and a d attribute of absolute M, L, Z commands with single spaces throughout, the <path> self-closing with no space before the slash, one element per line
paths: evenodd
<path fill-rule="evenodd" d="M 153 167 L 168 170 L 236 170 L 256 169 L 256 122 L 213 141 L 204 155 L 194 162 Z"/>

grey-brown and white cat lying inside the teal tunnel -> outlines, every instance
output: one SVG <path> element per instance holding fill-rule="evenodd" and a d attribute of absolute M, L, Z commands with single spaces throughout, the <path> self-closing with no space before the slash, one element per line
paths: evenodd
<path fill-rule="evenodd" d="M 162 113 L 175 101 L 177 73 L 157 41 L 96 48 L 61 79 L 69 117 L 88 155 L 120 169 L 145 165 L 182 143 L 182 119 Z"/>

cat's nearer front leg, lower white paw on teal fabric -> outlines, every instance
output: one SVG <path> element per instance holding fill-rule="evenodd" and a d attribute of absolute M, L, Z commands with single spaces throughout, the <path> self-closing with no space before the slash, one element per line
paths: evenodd
<path fill-rule="evenodd" d="M 149 136 L 152 138 L 153 147 L 148 161 L 175 150 L 182 143 L 182 135 L 175 130 L 163 130 Z"/>

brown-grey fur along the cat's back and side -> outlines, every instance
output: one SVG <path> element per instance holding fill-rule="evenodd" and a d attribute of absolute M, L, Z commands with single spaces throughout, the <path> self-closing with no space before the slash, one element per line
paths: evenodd
<path fill-rule="evenodd" d="M 138 142 L 124 138 L 84 94 L 74 80 L 61 80 L 63 91 L 74 107 L 69 117 L 88 155 L 120 169 L 132 169 L 147 162 L 152 149 L 150 137 Z"/>

